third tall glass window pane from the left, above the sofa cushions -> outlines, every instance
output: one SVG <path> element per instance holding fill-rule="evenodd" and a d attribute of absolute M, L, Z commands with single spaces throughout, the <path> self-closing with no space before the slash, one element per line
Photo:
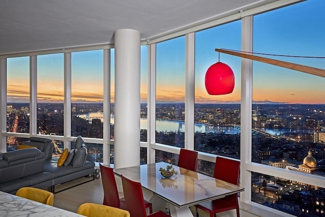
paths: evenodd
<path fill-rule="evenodd" d="M 103 138 L 103 50 L 71 55 L 71 135 Z"/>

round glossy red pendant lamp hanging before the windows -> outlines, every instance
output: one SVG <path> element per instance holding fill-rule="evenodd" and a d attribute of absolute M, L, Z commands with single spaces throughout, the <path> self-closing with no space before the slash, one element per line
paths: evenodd
<path fill-rule="evenodd" d="M 218 62 L 209 67 L 205 74 L 205 88 L 209 95 L 231 94 L 235 87 L 235 75 L 226 64 Z"/>

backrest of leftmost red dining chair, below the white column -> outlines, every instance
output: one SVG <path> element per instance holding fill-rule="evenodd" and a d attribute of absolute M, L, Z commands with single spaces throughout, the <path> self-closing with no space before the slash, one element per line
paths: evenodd
<path fill-rule="evenodd" d="M 102 183 L 104 189 L 103 205 L 120 208 L 120 199 L 118 196 L 117 185 L 113 168 L 105 167 L 100 164 Z"/>

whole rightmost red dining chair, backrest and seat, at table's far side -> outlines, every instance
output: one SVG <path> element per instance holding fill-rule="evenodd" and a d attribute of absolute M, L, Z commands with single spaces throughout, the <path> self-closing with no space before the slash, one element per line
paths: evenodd
<path fill-rule="evenodd" d="M 240 162 L 231 159 L 217 157 L 214 167 L 214 178 L 239 184 Z M 199 216 L 198 208 L 210 213 L 210 217 L 215 216 L 218 212 L 236 209 L 237 217 L 239 217 L 239 205 L 237 194 L 225 196 L 213 201 L 207 201 L 196 205 L 197 216 Z"/>

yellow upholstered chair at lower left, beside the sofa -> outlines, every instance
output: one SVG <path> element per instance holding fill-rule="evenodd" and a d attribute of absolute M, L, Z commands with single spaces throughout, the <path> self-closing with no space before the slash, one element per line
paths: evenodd
<path fill-rule="evenodd" d="M 53 193 L 42 189 L 23 187 L 16 192 L 16 195 L 29 200 L 34 200 L 40 203 L 53 206 L 53 200 L 54 200 Z"/>

